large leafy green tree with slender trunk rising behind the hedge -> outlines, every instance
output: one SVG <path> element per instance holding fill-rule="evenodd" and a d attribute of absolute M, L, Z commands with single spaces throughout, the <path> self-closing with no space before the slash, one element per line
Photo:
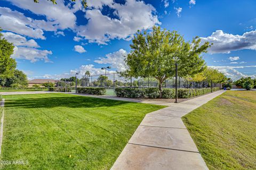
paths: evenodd
<path fill-rule="evenodd" d="M 208 42 L 201 45 L 201 39 L 195 37 L 192 42 L 185 42 L 177 31 L 153 30 L 138 31 L 133 37 L 131 52 L 125 63 L 126 75 L 133 77 L 155 77 L 159 81 L 162 95 L 162 83 L 175 75 L 175 63 L 178 64 L 179 76 L 193 76 L 205 69 L 201 53 L 207 52 Z"/>

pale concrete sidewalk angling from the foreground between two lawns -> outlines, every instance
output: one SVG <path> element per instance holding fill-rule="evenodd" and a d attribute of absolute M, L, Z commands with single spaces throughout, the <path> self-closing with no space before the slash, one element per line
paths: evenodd
<path fill-rule="evenodd" d="M 223 92 L 147 114 L 111 169 L 208 169 L 181 117 Z"/>

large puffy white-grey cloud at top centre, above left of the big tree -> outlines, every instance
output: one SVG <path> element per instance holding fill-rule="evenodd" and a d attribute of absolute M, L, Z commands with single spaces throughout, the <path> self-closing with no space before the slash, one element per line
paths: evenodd
<path fill-rule="evenodd" d="M 100 11 L 102 4 L 107 4 L 115 10 L 118 19 L 103 15 Z M 90 43 L 107 44 L 111 39 L 126 39 L 137 30 L 148 29 L 160 24 L 155 8 L 143 1 L 129 0 L 124 5 L 113 1 L 90 1 L 92 10 L 87 10 L 85 18 L 88 23 L 77 27 L 77 36 L 84 37 Z M 102 24 L 103 23 L 103 24 Z"/>

